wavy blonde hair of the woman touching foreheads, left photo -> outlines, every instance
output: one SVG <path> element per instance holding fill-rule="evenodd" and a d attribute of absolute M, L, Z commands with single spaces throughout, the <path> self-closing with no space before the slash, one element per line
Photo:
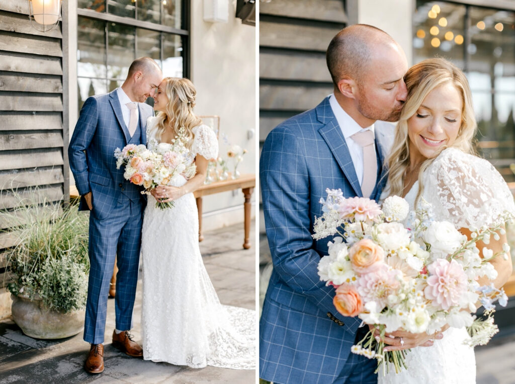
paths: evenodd
<path fill-rule="evenodd" d="M 165 77 L 163 91 L 168 97 L 168 103 L 164 111 L 157 113 L 156 138 L 161 141 L 161 136 L 167 126 L 170 126 L 175 135 L 179 128 L 184 127 L 187 147 L 190 148 L 193 142 L 192 129 L 202 124 L 202 120 L 193 113 L 195 96 L 197 91 L 190 79 L 181 77 Z"/>

